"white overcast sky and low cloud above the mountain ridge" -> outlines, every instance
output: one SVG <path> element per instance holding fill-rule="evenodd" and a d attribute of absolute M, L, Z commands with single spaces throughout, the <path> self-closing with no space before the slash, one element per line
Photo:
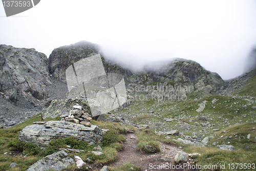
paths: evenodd
<path fill-rule="evenodd" d="M 0 4 L 0 44 L 49 56 L 80 40 L 133 68 L 178 57 L 229 79 L 256 47 L 256 1 L 41 0 L 10 17 Z"/>

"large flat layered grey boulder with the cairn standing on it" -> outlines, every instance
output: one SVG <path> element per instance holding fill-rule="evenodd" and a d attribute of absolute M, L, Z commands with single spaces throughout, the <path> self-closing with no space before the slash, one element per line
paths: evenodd
<path fill-rule="evenodd" d="M 18 139 L 24 142 L 47 146 L 51 140 L 73 137 L 89 144 L 99 144 L 105 132 L 96 125 L 90 127 L 66 121 L 49 121 L 45 124 L 26 126 L 19 132 Z"/>

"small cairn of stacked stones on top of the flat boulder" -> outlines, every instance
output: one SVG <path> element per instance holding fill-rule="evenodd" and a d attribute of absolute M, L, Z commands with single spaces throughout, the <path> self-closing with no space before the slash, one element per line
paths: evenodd
<path fill-rule="evenodd" d="M 61 115 L 61 121 L 73 122 L 84 126 L 91 126 L 92 117 L 82 106 L 76 104 L 68 115 Z"/>

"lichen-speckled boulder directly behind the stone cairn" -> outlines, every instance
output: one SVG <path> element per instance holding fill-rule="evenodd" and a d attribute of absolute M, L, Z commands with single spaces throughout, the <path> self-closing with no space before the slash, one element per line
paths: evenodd
<path fill-rule="evenodd" d="M 59 99 L 59 100 L 50 100 L 48 101 L 44 109 L 42 109 L 42 119 L 45 118 L 56 118 L 61 116 L 69 116 L 70 111 L 73 109 L 73 106 L 80 104 L 82 106 L 83 112 L 90 114 L 90 107 L 87 99 Z M 73 110 L 72 110 L 73 111 Z M 77 113 L 79 111 L 75 110 Z M 72 115 L 72 114 L 71 114 Z"/>

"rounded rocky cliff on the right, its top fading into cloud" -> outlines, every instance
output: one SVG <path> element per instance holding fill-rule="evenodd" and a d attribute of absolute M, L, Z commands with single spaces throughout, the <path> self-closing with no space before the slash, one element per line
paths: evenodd
<path fill-rule="evenodd" d="M 145 69 L 144 73 L 131 76 L 130 80 L 146 85 L 193 86 L 195 90 L 205 93 L 221 89 L 224 83 L 217 73 L 206 71 L 199 63 L 186 59 L 169 61 L 155 70 Z"/>

